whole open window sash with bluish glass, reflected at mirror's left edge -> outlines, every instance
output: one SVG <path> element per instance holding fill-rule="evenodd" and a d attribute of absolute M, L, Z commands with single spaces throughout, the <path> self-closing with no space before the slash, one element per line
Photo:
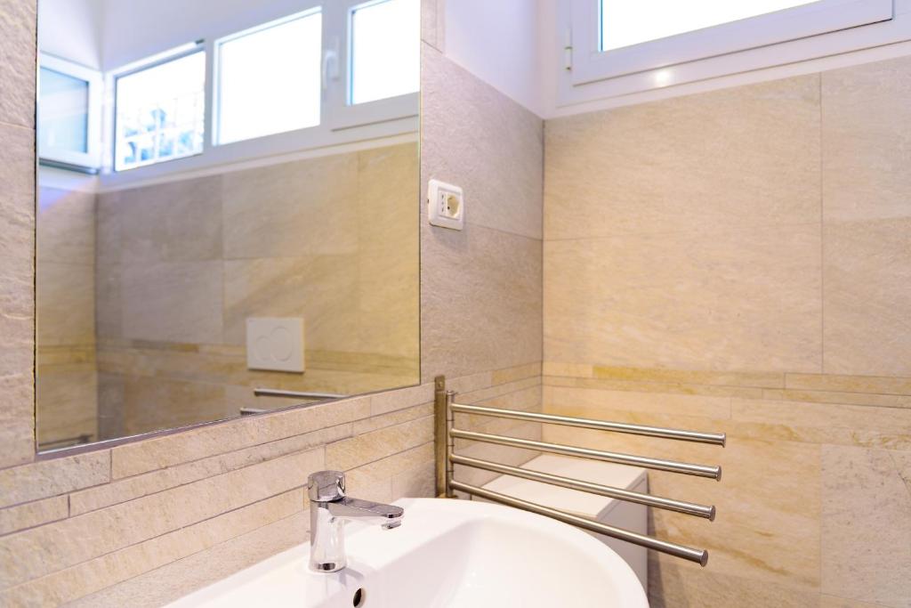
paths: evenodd
<path fill-rule="evenodd" d="M 101 75 L 42 54 L 38 72 L 38 157 L 81 169 L 98 165 Z"/>

